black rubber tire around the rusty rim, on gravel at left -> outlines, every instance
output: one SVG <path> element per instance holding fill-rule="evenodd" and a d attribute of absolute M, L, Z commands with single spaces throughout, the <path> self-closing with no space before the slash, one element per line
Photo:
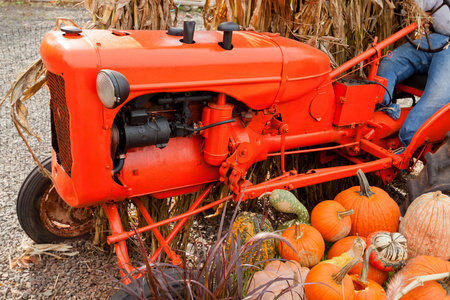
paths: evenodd
<path fill-rule="evenodd" d="M 50 171 L 51 158 L 44 160 L 42 165 Z M 61 203 L 60 211 L 67 209 L 67 215 L 69 215 L 71 208 L 63 203 L 63 200 L 58 196 L 52 181 L 42 175 L 39 167 L 34 168 L 23 182 L 17 197 L 17 217 L 25 233 L 38 244 L 52 243 L 86 235 L 91 227 L 91 221 L 88 218 L 83 218 L 83 222 L 75 226 L 57 222 L 51 223 L 52 220 L 49 217 L 46 218 L 46 221 L 41 218 L 41 213 L 43 216 L 48 216 L 41 203 L 43 199 L 47 199 L 50 195 L 58 198 L 58 201 Z M 44 211 L 42 211 L 43 209 Z M 73 213 L 70 212 L 70 214 Z M 55 224 L 63 227 L 59 228 Z M 80 230 L 73 231 L 74 228 Z"/>

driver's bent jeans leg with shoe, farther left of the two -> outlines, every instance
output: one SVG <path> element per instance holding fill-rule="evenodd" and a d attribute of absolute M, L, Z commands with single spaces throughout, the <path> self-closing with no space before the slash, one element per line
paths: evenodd
<path fill-rule="evenodd" d="M 426 41 L 422 39 L 421 43 L 426 43 Z M 431 57 L 431 54 L 418 51 L 411 44 L 406 43 L 394 49 L 391 57 L 385 57 L 381 61 L 377 75 L 388 80 L 386 88 L 392 95 L 397 83 L 402 82 L 415 73 L 426 73 Z M 388 104 L 389 95 L 385 93 L 382 105 L 379 105 L 378 108 L 394 120 L 397 120 L 400 117 L 400 106 L 396 103 L 386 106 Z"/>

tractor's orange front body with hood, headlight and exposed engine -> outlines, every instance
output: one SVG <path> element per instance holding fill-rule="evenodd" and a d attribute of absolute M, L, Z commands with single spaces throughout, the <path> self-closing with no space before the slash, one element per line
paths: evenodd
<path fill-rule="evenodd" d="M 307 144 L 289 135 L 333 129 L 328 57 L 236 26 L 209 32 L 66 26 L 44 37 L 52 176 L 69 205 L 231 184 L 231 165 L 243 177 L 280 150 L 282 125 L 288 148 Z M 311 143 L 333 139 L 332 133 Z M 227 162 L 233 153 L 236 162 Z"/>

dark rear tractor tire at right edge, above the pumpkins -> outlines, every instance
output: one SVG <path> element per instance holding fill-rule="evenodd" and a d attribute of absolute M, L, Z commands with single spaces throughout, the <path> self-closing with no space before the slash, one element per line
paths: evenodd
<path fill-rule="evenodd" d="M 446 142 L 434 153 L 425 154 L 427 164 L 419 176 L 408 180 L 409 201 L 424 193 L 441 191 L 450 195 L 450 131 Z"/>

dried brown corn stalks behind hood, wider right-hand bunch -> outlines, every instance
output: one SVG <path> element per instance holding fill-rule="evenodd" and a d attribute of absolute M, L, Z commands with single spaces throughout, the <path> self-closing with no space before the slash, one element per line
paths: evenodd
<path fill-rule="evenodd" d="M 393 0 L 218 0 L 206 1 L 207 29 L 224 21 L 245 30 L 278 32 L 326 52 L 341 64 L 396 29 Z"/>

